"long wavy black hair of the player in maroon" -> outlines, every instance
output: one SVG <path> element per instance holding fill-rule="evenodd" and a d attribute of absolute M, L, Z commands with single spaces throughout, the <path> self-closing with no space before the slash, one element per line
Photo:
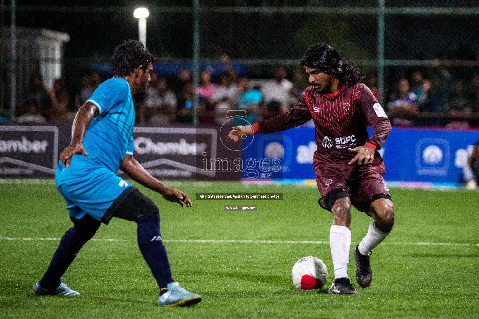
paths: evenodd
<path fill-rule="evenodd" d="M 299 65 L 315 67 L 321 72 L 335 76 L 341 83 L 347 82 L 348 86 L 364 83 L 366 79 L 353 62 L 341 61 L 338 51 L 327 43 L 311 46 L 303 55 Z"/>

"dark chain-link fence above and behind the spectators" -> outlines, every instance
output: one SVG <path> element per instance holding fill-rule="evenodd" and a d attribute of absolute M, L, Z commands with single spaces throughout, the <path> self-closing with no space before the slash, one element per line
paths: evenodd
<path fill-rule="evenodd" d="M 190 1 L 151 0 L 144 4 L 150 11 L 147 46 L 159 57 L 155 67 L 180 94 L 177 74 L 193 66 L 196 9 Z M 10 2 L 5 1 L 2 8 L 2 41 L 6 44 L 10 41 Z M 46 28 L 69 35 L 69 41 L 63 44 L 61 74 L 72 112 L 81 103 L 79 95 L 87 72 L 99 69 L 103 79 L 110 77 L 114 46 L 138 37 L 134 9 L 127 1 L 70 1 L 68 5 L 55 0 L 18 1 L 17 28 Z M 212 66 L 214 81 L 219 81 L 219 71 L 223 70 L 219 60 L 223 54 L 238 66 L 237 72 L 250 78 L 271 78 L 275 66 L 286 66 L 288 77 L 293 79 L 305 50 L 324 41 L 370 76 L 368 85 L 379 88 L 378 98 L 384 104 L 401 78 L 411 78 L 415 71 L 421 71 L 425 78 L 446 71 L 451 76 L 448 96 L 445 105 L 437 110 L 447 110 L 457 81 L 463 82 L 471 108 L 477 110 L 477 106 L 472 106 L 476 103 L 473 91 L 477 89 L 474 77 L 479 74 L 479 43 L 475 40 L 479 31 L 477 1 L 200 0 L 197 10 L 199 65 Z M 378 33 L 381 17 L 384 33 Z M 381 43 L 384 55 L 378 55 Z M 2 45 L 0 52 L 0 108 L 8 117 L 8 45 Z M 384 77 L 380 72 L 379 83 L 375 83 L 378 66 Z M 17 78 L 22 78 L 17 87 L 26 90 L 29 77 Z M 17 100 L 24 101 L 22 96 L 17 96 Z M 17 110 L 21 107 L 17 105 Z"/>

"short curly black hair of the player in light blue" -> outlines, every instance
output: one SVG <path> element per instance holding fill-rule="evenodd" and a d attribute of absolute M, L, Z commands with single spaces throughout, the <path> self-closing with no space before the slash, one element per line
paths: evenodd
<path fill-rule="evenodd" d="M 140 41 L 130 39 L 115 47 L 112 60 L 113 76 L 126 77 L 137 67 L 146 72 L 149 64 L 155 61 L 155 57 Z"/>

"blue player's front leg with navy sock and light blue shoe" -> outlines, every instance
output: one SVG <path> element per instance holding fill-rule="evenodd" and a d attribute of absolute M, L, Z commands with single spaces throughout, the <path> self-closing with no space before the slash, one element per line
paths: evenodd
<path fill-rule="evenodd" d="M 137 222 L 140 252 L 160 286 L 159 306 L 190 306 L 201 296 L 183 289 L 171 277 L 170 263 L 160 234 L 160 211 L 139 190 L 133 191 L 120 204 L 113 216 Z"/>

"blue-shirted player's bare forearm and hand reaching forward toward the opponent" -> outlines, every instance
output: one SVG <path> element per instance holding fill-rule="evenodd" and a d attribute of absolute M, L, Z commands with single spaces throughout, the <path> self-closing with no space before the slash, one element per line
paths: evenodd
<path fill-rule="evenodd" d="M 134 181 L 140 183 L 144 187 L 148 187 L 157 193 L 160 193 L 163 198 L 174 203 L 180 204 L 182 207 L 192 207 L 193 204 L 188 195 L 181 190 L 170 188 L 161 183 L 158 179 L 151 176 L 148 171 L 133 158 L 132 155 L 126 154 L 125 159 L 120 165 L 120 169 L 125 172 L 126 175 L 133 178 Z"/>

